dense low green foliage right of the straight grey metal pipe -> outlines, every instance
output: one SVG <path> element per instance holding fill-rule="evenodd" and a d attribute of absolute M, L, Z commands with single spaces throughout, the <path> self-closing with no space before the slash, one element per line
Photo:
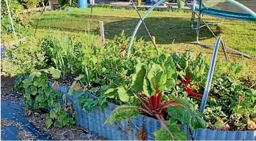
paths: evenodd
<path fill-rule="evenodd" d="M 235 67 L 232 70 L 239 73 L 236 65 L 232 66 Z M 243 85 L 234 75 L 218 73 L 213 80 L 211 93 L 214 97 L 209 98 L 204 112 L 204 118 L 211 128 L 218 128 L 216 123 L 223 121 L 234 130 L 248 129 L 248 120 L 256 117 L 255 89 Z"/>

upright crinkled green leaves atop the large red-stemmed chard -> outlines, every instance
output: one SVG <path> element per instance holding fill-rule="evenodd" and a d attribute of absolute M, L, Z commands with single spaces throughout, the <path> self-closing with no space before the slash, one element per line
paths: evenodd
<path fill-rule="evenodd" d="M 149 63 L 138 63 L 132 76 L 132 89 L 153 96 L 157 91 L 172 91 L 176 86 L 177 72 L 171 56 L 162 54 L 159 59 Z M 167 82 L 168 80 L 168 82 Z"/>

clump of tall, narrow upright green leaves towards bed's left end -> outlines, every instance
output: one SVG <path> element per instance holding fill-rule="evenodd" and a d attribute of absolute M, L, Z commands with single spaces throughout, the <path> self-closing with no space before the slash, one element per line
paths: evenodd
<path fill-rule="evenodd" d="M 41 44 L 46 64 L 58 68 L 64 75 L 80 71 L 83 57 L 81 46 L 81 43 L 69 36 L 48 37 Z"/>

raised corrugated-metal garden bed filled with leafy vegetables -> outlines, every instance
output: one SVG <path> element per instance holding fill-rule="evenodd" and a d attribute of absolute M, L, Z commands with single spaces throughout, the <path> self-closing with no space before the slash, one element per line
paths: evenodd
<path fill-rule="evenodd" d="M 27 108 L 50 107 L 47 128 L 76 123 L 108 140 L 254 140 L 256 91 L 237 77 L 239 64 L 219 62 L 201 114 L 204 54 L 171 55 L 162 48 L 157 54 L 139 39 L 127 60 L 128 41 L 123 33 L 104 47 L 90 35 L 86 43 L 71 37 L 31 40 L 33 45 L 5 51 L 3 71 L 22 74 L 15 90 Z"/>

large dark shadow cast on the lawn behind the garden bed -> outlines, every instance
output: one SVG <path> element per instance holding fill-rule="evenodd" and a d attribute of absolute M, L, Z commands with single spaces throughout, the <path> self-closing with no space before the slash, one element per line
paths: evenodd
<path fill-rule="evenodd" d="M 121 20 L 118 22 L 105 23 L 105 36 L 112 39 L 115 34 L 119 34 L 122 30 L 125 34 L 131 36 L 134 32 L 138 19 Z M 178 17 L 148 17 L 145 19 L 150 34 L 155 36 L 157 44 L 173 43 L 191 43 L 196 41 L 196 34 L 191 29 L 191 22 L 185 18 Z M 200 38 L 213 38 L 213 35 L 206 28 L 200 30 Z M 216 36 L 220 31 L 214 30 Z M 137 37 L 143 36 L 145 40 L 150 40 L 148 32 L 143 24 L 138 29 Z"/>

